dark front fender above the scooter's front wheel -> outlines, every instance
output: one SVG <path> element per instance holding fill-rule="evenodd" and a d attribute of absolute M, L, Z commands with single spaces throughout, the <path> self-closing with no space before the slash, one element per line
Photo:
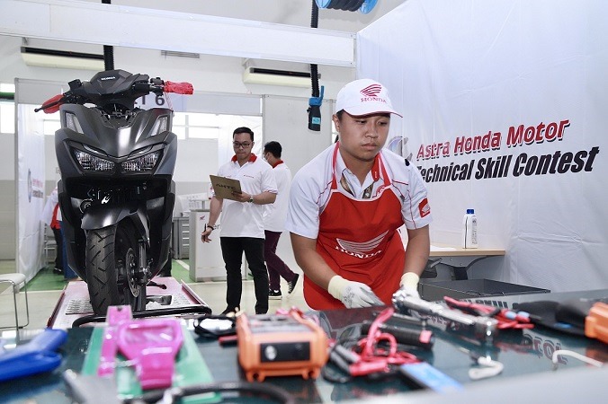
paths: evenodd
<path fill-rule="evenodd" d="M 89 206 L 83 215 L 80 227 L 87 230 L 102 229 L 121 222 L 129 217 L 138 229 L 138 233 L 144 237 L 146 244 L 150 243 L 148 229 L 148 217 L 144 209 L 138 206 Z"/>

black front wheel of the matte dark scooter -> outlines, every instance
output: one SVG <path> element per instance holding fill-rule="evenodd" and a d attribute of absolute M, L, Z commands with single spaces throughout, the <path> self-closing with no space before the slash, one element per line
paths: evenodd
<path fill-rule="evenodd" d="M 97 315 L 112 305 L 146 310 L 146 285 L 135 278 L 139 250 L 133 234 L 133 226 L 124 221 L 86 233 L 86 283 Z"/>

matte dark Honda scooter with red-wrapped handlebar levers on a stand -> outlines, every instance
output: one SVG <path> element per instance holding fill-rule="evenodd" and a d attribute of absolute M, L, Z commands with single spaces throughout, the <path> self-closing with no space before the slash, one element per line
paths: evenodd
<path fill-rule="evenodd" d="M 135 108 L 150 92 L 192 94 L 192 84 L 110 70 L 70 82 L 38 109 L 61 114 L 55 149 L 67 262 L 99 315 L 116 304 L 145 310 L 146 285 L 169 258 L 177 137 L 172 110 Z"/>

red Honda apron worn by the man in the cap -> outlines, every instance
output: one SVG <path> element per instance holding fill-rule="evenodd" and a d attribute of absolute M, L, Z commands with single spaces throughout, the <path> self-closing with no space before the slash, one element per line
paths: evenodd
<path fill-rule="evenodd" d="M 370 199 L 355 200 L 337 189 L 335 161 L 333 180 L 326 208 L 319 216 L 317 252 L 337 275 L 369 285 L 386 304 L 399 287 L 406 259 L 397 229 L 403 224 L 401 203 L 391 190 L 380 154 L 372 170 L 374 180 L 384 185 Z M 315 310 L 344 308 L 325 289 L 304 277 L 304 299 Z"/>

